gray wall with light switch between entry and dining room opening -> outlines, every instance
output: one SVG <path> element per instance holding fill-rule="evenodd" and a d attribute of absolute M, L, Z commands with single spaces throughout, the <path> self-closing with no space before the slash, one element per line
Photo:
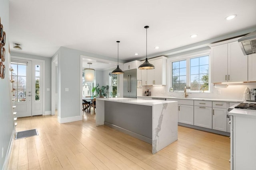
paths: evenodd
<path fill-rule="evenodd" d="M 80 56 L 90 56 L 98 59 L 115 61 L 116 59 L 100 56 L 84 51 L 60 47 L 53 55 L 58 55 L 58 96 L 60 118 L 80 116 Z M 96 70 L 96 84 L 104 84 L 103 71 Z M 69 88 L 65 92 L 65 88 Z"/>

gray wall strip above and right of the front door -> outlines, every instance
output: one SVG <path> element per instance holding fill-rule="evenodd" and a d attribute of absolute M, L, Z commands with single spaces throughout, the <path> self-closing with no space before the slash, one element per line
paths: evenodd
<path fill-rule="evenodd" d="M 45 106 L 44 111 L 51 111 L 51 58 L 50 57 L 42 57 L 37 55 L 29 55 L 29 54 L 23 54 L 23 53 L 16 53 L 11 52 L 11 56 L 16 57 L 24 57 L 28 59 L 38 59 L 38 60 L 44 60 L 45 61 Z M 47 91 L 46 88 L 50 88 L 50 91 Z"/>

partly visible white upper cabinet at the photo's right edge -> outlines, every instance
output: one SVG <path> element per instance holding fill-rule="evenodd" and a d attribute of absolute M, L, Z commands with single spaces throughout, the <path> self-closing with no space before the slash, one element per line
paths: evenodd
<path fill-rule="evenodd" d="M 248 82 L 256 82 L 256 54 L 248 55 Z"/>

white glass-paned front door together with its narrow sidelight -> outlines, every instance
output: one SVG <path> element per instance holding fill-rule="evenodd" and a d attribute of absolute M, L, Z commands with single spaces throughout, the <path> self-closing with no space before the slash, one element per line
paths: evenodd
<path fill-rule="evenodd" d="M 42 115 L 42 63 L 12 59 L 11 67 L 17 117 Z"/>

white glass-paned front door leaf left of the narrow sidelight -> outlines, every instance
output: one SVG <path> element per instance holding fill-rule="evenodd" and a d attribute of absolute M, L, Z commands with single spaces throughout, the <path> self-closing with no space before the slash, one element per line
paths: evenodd
<path fill-rule="evenodd" d="M 13 68 L 12 98 L 17 117 L 31 116 L 31 61 L 11 62 Z"/>

